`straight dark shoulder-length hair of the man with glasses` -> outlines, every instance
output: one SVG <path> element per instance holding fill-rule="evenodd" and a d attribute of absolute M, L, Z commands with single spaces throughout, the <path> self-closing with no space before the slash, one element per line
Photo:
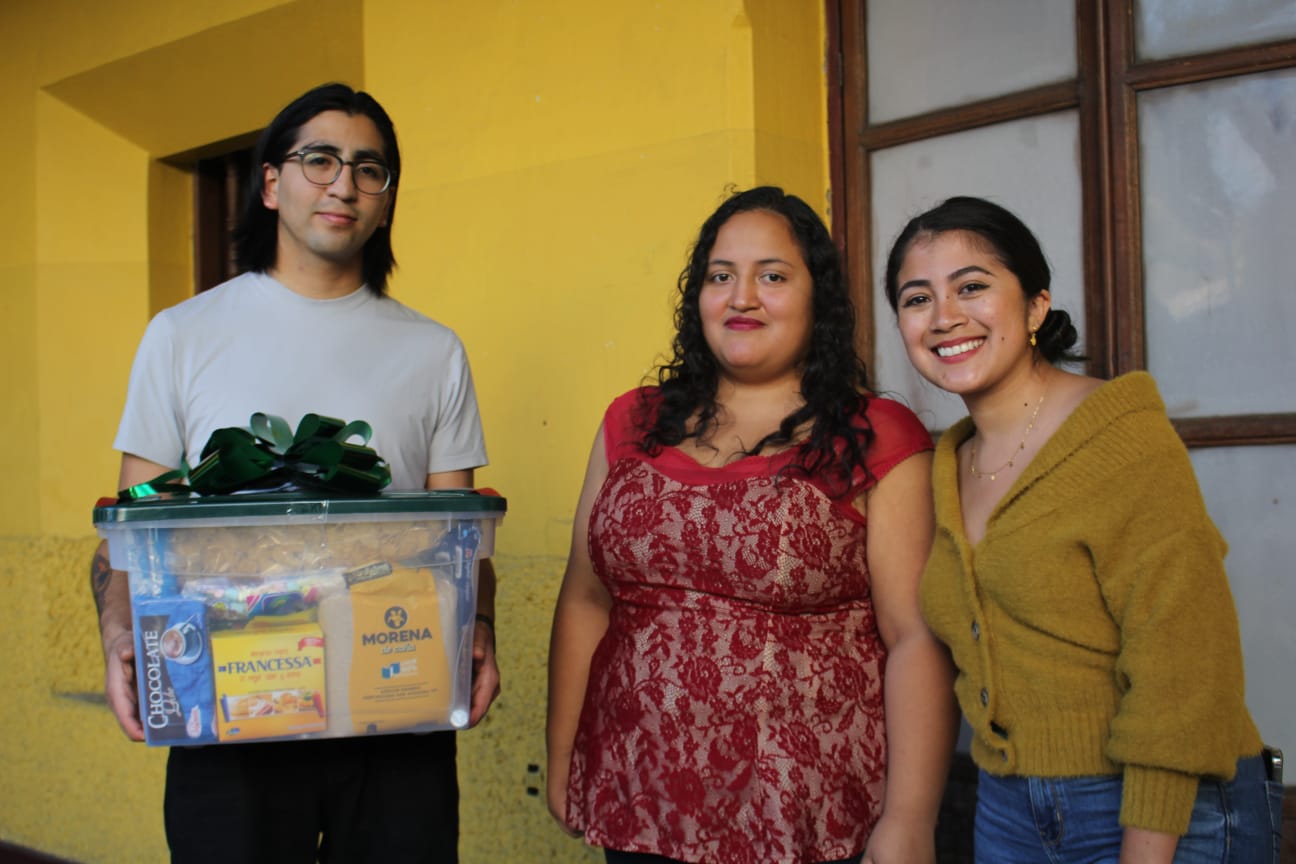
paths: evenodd
<path fill-rule="evenodd" d="M 275 266 L 279 251 L 279 214 L 267 210 L 260 196 L 266 190 L 266 165 L 283 165 L 297 135 L 306 123 L 324 111 L 343 111 L 351 117 L 362 115 L 373 120 L 382 137 L 382 155 L 391 168 L 391 187 L 388 189 L 390 205 L 385 225 L 378 225 L 364 244 L 362 269 L 364 284 L 381 297 L 388 290 L 388 275 L 397 264 L 391 251 L 391 220 L 397 209 L 397 180 L 400 177 L 400 148 L 397 145 L 397 131 L 391 118 L 382 110 L 377 100 L 364 91 L 355 91 L 346 84 L 323 84 L 302 93 L 289 102 L 270 122 L 257 140 L 251 157 L 251 176 L 248 179 L 248 196 L 242 216 L 235 228 L 235 260 L 240 271 L 264 272 Z"/>

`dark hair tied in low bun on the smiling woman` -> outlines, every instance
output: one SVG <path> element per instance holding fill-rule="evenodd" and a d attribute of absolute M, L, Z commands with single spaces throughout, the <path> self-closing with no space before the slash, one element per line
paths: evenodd
<path fill-rule="evenodd" d="M 984 198 L 958 196 L 910 219 L 892 244 L 890 255 L 886 256 L 884 288 L 893 312 L 899 303 L 899 268 L 905 263 L 905 255 L 915 241 L 936 237 L 947 231 L 977 234 L 990 254 L 1017 277 L 1028 301 L 1048 290 L 1052 279 L 1048 262 L 1045 259 L 1043 249 L 1039 247 L 1039 241 L 1025 223 L 997 203 Z M 1083 360 L 1083 355 L 1072 351 L 1078 338 L 1070 316 L 1056 307 L 1050 307 L 1048 315 L 1036 330 L 1037 348 L 1048 363 Z"/>

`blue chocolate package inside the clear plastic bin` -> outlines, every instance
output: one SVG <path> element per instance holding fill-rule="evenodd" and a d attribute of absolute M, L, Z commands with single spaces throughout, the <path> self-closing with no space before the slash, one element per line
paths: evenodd
<path fill-rule="evenodd" d="M 135 654 L 148 742 L 215 744 L 206 604 L 187 597 L 136 600 Z"/>

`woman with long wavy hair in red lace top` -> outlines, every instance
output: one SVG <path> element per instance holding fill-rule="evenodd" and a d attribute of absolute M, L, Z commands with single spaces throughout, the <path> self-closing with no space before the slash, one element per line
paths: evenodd
<path fill-rule="evenodd" d="M 934 861 L 931 439 L 871 395 L 827 229 L 732 196 L 674 359 L 609 407 L 550 648 L 548 798 L 609 863 Z"/>

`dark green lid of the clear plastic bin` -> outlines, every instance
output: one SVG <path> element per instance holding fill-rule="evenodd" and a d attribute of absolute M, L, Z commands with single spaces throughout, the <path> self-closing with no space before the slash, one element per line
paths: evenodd
<path fill-rule="evenodd" d="M 435 516 L 441 513 L 481 514 L 498 518 L 508 509 L 499 495 L 473 490 L 429 490 L 424 492 L 382 492 L 356 497 L 320 497 L 318 492 L 270 492 L 249 495 L 209 495 L 187 499 L 153 499 L 95 508 L 95 525 L 111 529 L 131 523 L 184 519 L 255 518 L 301 516 Z"/>

